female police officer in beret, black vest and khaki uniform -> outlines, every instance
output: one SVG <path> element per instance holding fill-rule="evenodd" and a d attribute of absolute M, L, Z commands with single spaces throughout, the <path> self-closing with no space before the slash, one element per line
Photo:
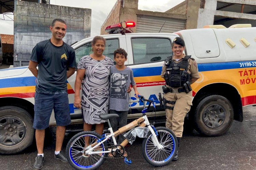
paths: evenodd
<path fill-rule="evenodd" d="M 200 78 L 195 59 L 191 58 L 191 55 L 183 54 L 184 50 L 184 40 L 180 37 L 174 38 L 172 42 L 174 55 L 165 60 L 161 72 L 161 77 L 166 81 L 166 85 L 163 86 L 166 127 L 176 135 L 178 146 L 182 137 L 184 118 L 192 105 L 190 84 Z M 178 152 L 173 160 L 178 160 Z"/>

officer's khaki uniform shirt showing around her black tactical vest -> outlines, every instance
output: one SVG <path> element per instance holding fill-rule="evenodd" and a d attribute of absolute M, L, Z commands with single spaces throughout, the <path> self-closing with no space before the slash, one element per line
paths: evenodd
<path fill-rule="evenodd" d="M 175 58 L 174 58 L 174 55 L 172 56 L 172 60 L 175 62 L 175 63 L 179 63 L 183 60 L 183 58 L 185 57 L 186 55 L 183 54 L 182 58 L 179 60 L 179 61 L 176 61 Z M 164 73 L 166 72 L 166 65 L 163 64 L 163 67 L 162 67 L 162 72 L 161 72 L 161 77 L 163 78 L 163 75 Z M 198 68 L 197 68 L 197 63 L 195 60 L 192 60 L 192 59 L 189 59 L 189 65 L 188 65 L 188 70 L 187 72 L 189 74 L 191 74 L 191 79 L 197 79 L 197 78 L 200 78 L 199 76 L 199 73 L 198 73 Z M 167 87 L 171 88 L 170 86 L 166 85 Z"/>

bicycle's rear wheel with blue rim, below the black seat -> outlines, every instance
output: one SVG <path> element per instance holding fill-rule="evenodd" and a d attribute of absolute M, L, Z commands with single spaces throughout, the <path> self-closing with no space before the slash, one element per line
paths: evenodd
<path fill-rule="evenodd" d="M 107 154 L 83 154 L 85 148 L 102 138 L 98 133 L 92 131 L 80 132 L 73 136 L 67 145 L 66 154 L 69 164 L 75 169 L 95 169 L 103 164 Z M 86 142 L 87 141 L 87 142 Z M 105 151 L 106 142 L 98 146 L 94 151 Z"/>

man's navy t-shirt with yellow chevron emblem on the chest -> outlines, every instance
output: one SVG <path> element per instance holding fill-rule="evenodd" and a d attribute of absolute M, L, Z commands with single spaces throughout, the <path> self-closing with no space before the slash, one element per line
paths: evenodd
<path fill-rule="evenodd" d="M 67 68 L 76 67 L 74 49 L 63 42 L 41 41 L 32 50 L 30 60 L 38 63 L 35 91 L 46 94 L 67 93 Z"/>

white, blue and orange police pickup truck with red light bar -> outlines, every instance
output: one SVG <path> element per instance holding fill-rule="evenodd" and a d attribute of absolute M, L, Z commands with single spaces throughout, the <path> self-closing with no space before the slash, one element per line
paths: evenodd
<path fill-rule="evenodd" d="M 256 104 L 256 28 L 235 25 L 176 33 L 130 33 L 134 26 L 134 22 L 122 22 L 106 27 L 110 34 L 103 35 L 104 55 L 113 59 L 114 50 L 125 49 L 128 53 L 125 64 L 133 70 L 138 91 L 145 98 L 153 97 L 159 105 L 158 93 L 165 84 L 160 77 L 163 61 L 173 54 L 173 39 L 183 38 L 184 52 L 195 58 L 200 74 L 200 79 L 192 85 L 193 107 L 188 114 L 191 128 L 207 136 L 221 135 L 233 120 L 243 120 L 244 106 Z M 81 57 L 93 53 L 92 40 L 89 37 L 72 45 L 77 63 Z M 81 110 L 73 106 L 75 76 L 67 81 L 70 116 L 72 123 L 82 123 Z M 34 93 L 35 77 L 27 66 L 0 70 L 0 153 L 17 153 L 31 145 Z M 141 116 L 139 111 L 143 107 L 133 95 L 134 91 L 130 95 L 129 119 Z M 156 116 L 164 117 L 165 112 L 158 109 Z M 49 125 L 55 124 L 52 114 Z"/>

